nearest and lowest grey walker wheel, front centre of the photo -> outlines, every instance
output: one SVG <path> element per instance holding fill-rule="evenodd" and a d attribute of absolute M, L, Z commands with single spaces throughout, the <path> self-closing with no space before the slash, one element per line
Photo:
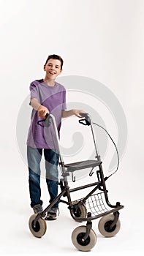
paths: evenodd
<path fill-rule="evenodd" d="M 76 227 L 72 232 L 72 243 L 80 251 L 90 251 L 96 244 L 96 233 L 93 229 L 90 230 L 88 238 L 83 241 L 86 234 L 86 226 Z"/>

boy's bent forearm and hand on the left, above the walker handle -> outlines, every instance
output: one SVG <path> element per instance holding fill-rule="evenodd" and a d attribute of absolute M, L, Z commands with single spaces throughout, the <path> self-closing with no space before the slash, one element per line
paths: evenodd
<path fill-rule="evenodd" d="M 34 108 L 34 110 L 38 111 L 38 116 L 41 117 L 41 118 L 45 118 L 46 113 L 50 112 L 48 110 L 48 108 L 46 108 L 45 106 L 42 106 L 38 102 L 38 99 L 36 99 L 36 98 L 31 99 L 31 106 L 32 106 L 32 108 Z"/>

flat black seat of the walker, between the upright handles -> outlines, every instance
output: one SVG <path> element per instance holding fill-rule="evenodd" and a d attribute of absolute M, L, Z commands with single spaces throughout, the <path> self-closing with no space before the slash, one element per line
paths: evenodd
<path fill-rule="evenodd" d="M 67 167 L 67 171 L 73 172 L 75 170 L 81 170 L 81 169 L 86 169 L 90 167 L 93 168 L 101 164 L 102 164 L 101 161 L 86 160 L 81 162 L 72 162 L 71 164 L 65 164 L 64 167 Z"/>

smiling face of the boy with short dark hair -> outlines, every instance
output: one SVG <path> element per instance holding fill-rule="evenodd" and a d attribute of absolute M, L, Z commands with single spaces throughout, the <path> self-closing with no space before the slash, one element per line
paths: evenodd
<path fill-rule="evenodd" d="M 49 59 L 47 64 L 44 65 L 44 70 L 48 79 L 55 80 L 56 77 L 62 72 L 61 61 L 58 59 Z"/>

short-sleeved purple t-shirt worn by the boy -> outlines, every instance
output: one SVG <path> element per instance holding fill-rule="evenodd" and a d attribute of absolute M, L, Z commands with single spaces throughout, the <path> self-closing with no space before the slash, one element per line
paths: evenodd
<path fill-rule="evenodd" d="M 31 99 L 36 98 L 38 102 L 48 108 L 50 113 L 56 118 L 58 135 L 61 128 L 61 110 L 66 107 L 66 89 L 60 83 L 55 82 L 55 86 L 48 86 L 43 79 L 34 80 L 30 85 Z M 41 127 L 37 121 L 42 120 L 38 117 L 37 110 L 32 110 L 31 124 L 27 145 L 32 148 L 57 148 L 56 136 L 53 131 L 53 124 L 50 127 Z"/>

